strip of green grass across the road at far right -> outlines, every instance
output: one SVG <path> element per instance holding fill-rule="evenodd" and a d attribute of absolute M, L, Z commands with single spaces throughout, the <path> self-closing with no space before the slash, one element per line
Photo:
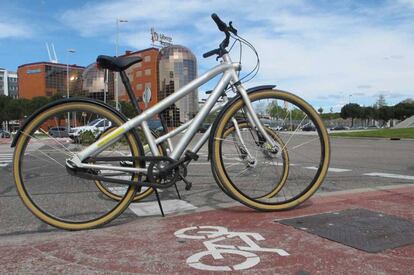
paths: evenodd
<path fill-rule="evenodd" d="M 375 137 L 375 138 L 411 138 L 414 139 L 414 128 L 378 129 L 345 133 L 331 133 L 334 137 Z"/>

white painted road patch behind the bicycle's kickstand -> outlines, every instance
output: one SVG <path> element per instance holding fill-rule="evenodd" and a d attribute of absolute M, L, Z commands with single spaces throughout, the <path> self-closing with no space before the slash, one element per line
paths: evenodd
<path fill-rule="evenodd" d="M 196 206 L 183 200 L 162 200 L 161 204 L 164 214 L 197 209 Z M 157 201 L 131 203 L 129 209 L 137 216 L 161 215 Z"/>

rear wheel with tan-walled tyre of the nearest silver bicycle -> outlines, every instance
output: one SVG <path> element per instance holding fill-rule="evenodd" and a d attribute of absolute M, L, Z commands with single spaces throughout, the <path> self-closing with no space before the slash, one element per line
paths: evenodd
<path fill-rule="evenodd" d="M 71 158 L 96 140 L 95 130 L 85 131 L 78 143 L 69 138 L 48 135 L 49 127 L 67 125 L 72 131 L 86 126 L 96 119 L 106 119 L 112 127 L 126 120 L 100 104 L 70 100 L 56 103 L 31 118 L 16 143 L 13 175 L 23 203 L 42 221 L 67 230 L 89 229 L 101 226 L 120 215 L 134 198 L 136 187 L 127 186 L 120 193 L 120 200 L 106 198 L 96 189 L 95 181 L 71 175 L 66 169 L 66 159 Z M 79 129 L 79 128 L 78 128 Z M 96 157 L 112 157 L 119 154 L 142 155 L 142 145 L 131 132 L 99 153 Z M 93 164 L 93 160 L 90 161 Z M 102 165 L 119 166 L 119 162 L 101 162 Z M 134 167 L 140 163 L 133 162 Z M 89 170 L 92 174 L 111 171 Z M 130 174 L 129 180 L 138 181 L 138 174 Z M 124 185 L 120 185 L 124 187 Z"/>

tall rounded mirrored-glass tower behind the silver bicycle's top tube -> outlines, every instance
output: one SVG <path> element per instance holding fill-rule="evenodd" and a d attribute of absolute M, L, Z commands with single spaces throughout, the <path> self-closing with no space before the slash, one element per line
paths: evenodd
<path fill-rule="evenodd" d="M 197 60 L 187 48 L 172 45 L 158 55 L 158 100 L 171 95 L 197 77 Z M 168 126 L 177 127 L 193 118 L 198 111 L 198 92 L 194 90 L 165 112 Z"/>

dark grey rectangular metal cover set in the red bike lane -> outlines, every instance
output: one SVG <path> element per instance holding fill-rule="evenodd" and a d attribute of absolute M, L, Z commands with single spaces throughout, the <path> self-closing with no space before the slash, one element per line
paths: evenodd
<path fill-rule="evenodd" d="M 279 222 L 366 252 L 414 244 L 414 221 L 366 209 L 348 209 Z"/>

